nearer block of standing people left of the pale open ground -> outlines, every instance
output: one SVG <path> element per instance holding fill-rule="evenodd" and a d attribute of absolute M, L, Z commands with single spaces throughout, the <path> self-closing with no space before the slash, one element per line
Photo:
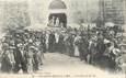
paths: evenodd
<path fill-rule="evenodd" d="M 3 73 L 36 71 L 43 65 L 44 35 L 38 32 L 11 31 L 1 41 Z"/>

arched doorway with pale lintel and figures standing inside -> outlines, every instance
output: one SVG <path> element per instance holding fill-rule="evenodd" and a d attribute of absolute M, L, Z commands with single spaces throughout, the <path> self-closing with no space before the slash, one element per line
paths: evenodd
<path fill-rule="evenodd" d="M 61 0 L 54 0 L 49 4 L 49 26 L 67 27 L 67 7 Z"/>

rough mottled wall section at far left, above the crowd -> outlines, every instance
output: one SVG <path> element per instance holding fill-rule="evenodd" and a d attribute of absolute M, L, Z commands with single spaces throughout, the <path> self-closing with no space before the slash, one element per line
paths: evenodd
<path fill-rule="evenodd" d="M 14 29 L 31 24 L 27 1 L 0 1 L 0 29 Z"/>

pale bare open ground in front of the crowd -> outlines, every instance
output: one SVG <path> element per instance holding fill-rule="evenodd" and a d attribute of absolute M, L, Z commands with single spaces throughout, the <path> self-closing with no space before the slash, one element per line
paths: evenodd
<path fill-rule="evenodd" d="M 38 70 L 37 74 L 53 75 L 53 76 L 61 76 L 66 77 L 75 77 L 75 78 L 107 78 L 110 77 L 110 73 L 107 70 L 100 69 L 98 67 L 88 65 L 84 62 L 81 62 L 78 57 L 69 57 L 64 54 L 58 53 L 46 53 L 44 65 L 42 70 Z M 121 78 L 121 75 L 111 75 L 116 78 Z"/>

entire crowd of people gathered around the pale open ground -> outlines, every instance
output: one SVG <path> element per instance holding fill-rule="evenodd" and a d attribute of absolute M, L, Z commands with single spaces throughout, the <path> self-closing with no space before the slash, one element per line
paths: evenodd
<path fill-rule="evenodd" d="M 1 40 L 1 70 L 36 71 L 43 66 L 47 52 L 78 57 L 92 65 L 100 59 L 115 62 L 110 65 L 115 68 L 118 64 L 116 58 L 122 54 L 118 34 L 114 27 L 9 31 Z"/>

